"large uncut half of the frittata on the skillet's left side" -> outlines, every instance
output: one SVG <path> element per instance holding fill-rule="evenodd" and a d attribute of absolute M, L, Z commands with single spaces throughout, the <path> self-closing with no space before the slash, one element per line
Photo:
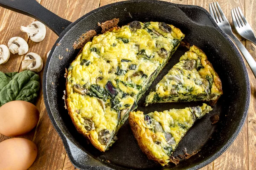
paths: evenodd
<path fill-rule="evenodd" d="M 67 72 L 66 104 L 77 130 L 100 151 L 177 49 L 184 34 L 172 25 L 134 21 L 93 37 Z"/>

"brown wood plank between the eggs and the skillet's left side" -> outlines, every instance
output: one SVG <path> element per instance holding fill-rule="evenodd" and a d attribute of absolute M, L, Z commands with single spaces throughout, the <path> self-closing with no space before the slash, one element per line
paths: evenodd
<path fill-rule="evenodd" d="M 41 5 L 43 5 L 45 8 L 63 18 L 66 17 L 69 4 L 70 0 L 43 0 L 41 3 Z M 35 52 L 39 54 L 43 59 L 45 66 L 47 60 L 46 54 L 52 48 L 57 38 L 58 36 L 49 28 L 47 28 L 47 34 L 43 41 L 33 42 L 29 40 L 29 52 Z M 36 106 L 40 111 L 40 119 L 33 138 L 33 142 L 35 142 L 38 147 L 38 156 L 29 170 L 61 170 L 63 167 L 66 151 L 60 137 L 52 126 L 44 105 L 42 91 L 44 74 L 43 70 L 39 73 L 41 87 L 36 102 Z"/>

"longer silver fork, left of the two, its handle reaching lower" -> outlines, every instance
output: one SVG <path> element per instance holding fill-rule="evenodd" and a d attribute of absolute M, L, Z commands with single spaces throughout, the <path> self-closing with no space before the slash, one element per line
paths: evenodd
<path fill-rule="evenodd" d="M 236 38 L 236 36 L 231 31 L 231 26 L 225 17 L 223 11 L 221 10 L 220 5 L 216 1 L 215 3 L 209 3 L 210 14 L 212 15 L 215 22 L 218 26 L 235 42 L 241 53 L 244 55 L 244 58 L 248 62 L 250 68 L 253 71 L 254 77 L 256 78 L 256 62 L 244 45 Z"/>

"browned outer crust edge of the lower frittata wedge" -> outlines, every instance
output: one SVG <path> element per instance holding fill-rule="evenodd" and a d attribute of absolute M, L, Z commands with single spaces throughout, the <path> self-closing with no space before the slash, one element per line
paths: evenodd
<path fill-rule="evenodd" d="M 134 118 L 134 114 L 132 112 L 129 113 L 129 124 L 131 127 L 131 130 L 134 134 L 135 139 L 137 140 L 140 149 L 142 150 L 142 152 L 148 157 L 148 159 L 155 161 L 156 163 L 159 164 L 165 164 L 166 162 L 163 159 L 157 159 L 151 152 L 150 150 L 148 150 L 148 148 L 143 144 L 142 142 L 142 137 L 140 136 L 140 132 L 141 132 L 141 128 L 139 127 L 139 125 L 137 125 L 135 118 Z"/>

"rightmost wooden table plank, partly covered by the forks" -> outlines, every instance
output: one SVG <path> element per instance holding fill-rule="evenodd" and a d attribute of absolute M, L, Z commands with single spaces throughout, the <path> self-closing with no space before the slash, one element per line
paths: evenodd
<path fill-rule="evenodd" d="M 245 17 L 247 22 L 253 28 L 254 33 L 256 33 L 256 2 L 255 0 L 245 0 Z M 246 48 L 256 59 L 256 45 L 250 41 L 246 41 Z M 256 167 L 256 79 L 247 64 L 247 70 L 250 78 L 251 86 L 251 99 L 250 108 L 248 111 L 248 166 L 249 170 L 254 170 Z M 249 149 L 250 148 L 250 149 Z"/>

